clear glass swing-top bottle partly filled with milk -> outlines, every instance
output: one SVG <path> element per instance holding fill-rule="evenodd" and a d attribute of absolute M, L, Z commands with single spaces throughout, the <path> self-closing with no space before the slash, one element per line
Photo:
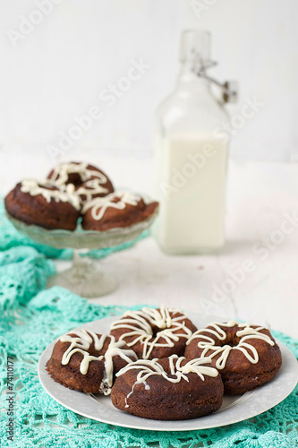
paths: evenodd
<path fill-rule="evenodd" d="M 168 254 L 209 253 L 225 242 L 229 142 L 220 130 L 228 116 L 210 90 L 209 41 L 206 31 L 183 32 L 181 72 L 157 111 L 152 233 Z"/>

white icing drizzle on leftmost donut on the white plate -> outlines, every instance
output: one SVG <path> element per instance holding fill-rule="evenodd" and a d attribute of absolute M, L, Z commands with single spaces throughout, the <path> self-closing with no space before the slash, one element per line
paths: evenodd
<path fill-rule="evenodd" d="M 71 336 L 71 334 L 75 334 L 75 336 Z M 99 357 L 94 357 L 89 355 L 89 347 L 92 342 L 94 342 L 94 348 L 96 350 L 101 350 L 104 347 L 106 338 L 110 339 L 110 343 L 104 355 Z M 64 352 L 61 364 L 66 366 L 72 355 L 74 353 L 81 353 L 83 358 L 80 364 L 80 372 L 82 375 L 86 375 L 89 369 L 90 361 L 97 360 L 102 361 L 105 358 L 105 373 L 102 384 L 100 386 L 100 391 L 105 394 L 110 393 L 110 388 L 113 383 L 113 357 L 120 356 L 128 363 L 132 362 L 132 359 L 129 357 L 137 358 L 136 354 L 132 350 L 123 349 L 124 342 L 123 341 L 115 341 L 114 336 L 107 336 L 106 334 L 102 334 L 100 338 L 95 332 L 91 332 L 91 330 L 81 330 L 76 332 L 70 332 L 65 334 L 60 338 L 61 342 L 70 342 L 69 348 Z"/>

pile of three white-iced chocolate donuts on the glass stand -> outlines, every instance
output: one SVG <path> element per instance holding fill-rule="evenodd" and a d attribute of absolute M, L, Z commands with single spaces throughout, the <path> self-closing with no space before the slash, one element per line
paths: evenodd
<path fill-rule="evenodd" d="M 24 179 L 4 202 L 15 220 L 71 231 L 79 219 L 86 230 L 128 227 L 158 209 L 158 202 L 146 202 L 139 194 L 115 192 L 109 177 L 87 162 L 61 163 L 43 180 Z"/>

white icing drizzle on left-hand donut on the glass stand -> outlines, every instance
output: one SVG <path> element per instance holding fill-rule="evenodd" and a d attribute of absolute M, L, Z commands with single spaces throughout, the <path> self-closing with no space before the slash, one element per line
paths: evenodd
<path fill-rule="evenodd" d="M 56 186 L 48 180 L 38 181 L 35 179 L 24 179 L 21 181 L 21 193 L 29 193 L 30 196 L 38 196 L 41 194 L 47 202 L 54 199 L 56 202 L 69 202 L 76 210 L 81 209 L 80 198 L 76 194 L 72 194 L 70 190 L 55 189 L 51 190 L 50 186 Z"/>

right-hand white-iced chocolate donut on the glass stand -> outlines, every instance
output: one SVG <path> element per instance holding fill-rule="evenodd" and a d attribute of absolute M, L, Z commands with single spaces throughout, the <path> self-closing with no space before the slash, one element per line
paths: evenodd
<path fill-rule="evenodd" d="M 158 209 L 158 202 L 145 202 L 138 194 L 115 192 L 83 204 L 81 227 L 105 231 L 126 228 L 147 220 Z"/>

